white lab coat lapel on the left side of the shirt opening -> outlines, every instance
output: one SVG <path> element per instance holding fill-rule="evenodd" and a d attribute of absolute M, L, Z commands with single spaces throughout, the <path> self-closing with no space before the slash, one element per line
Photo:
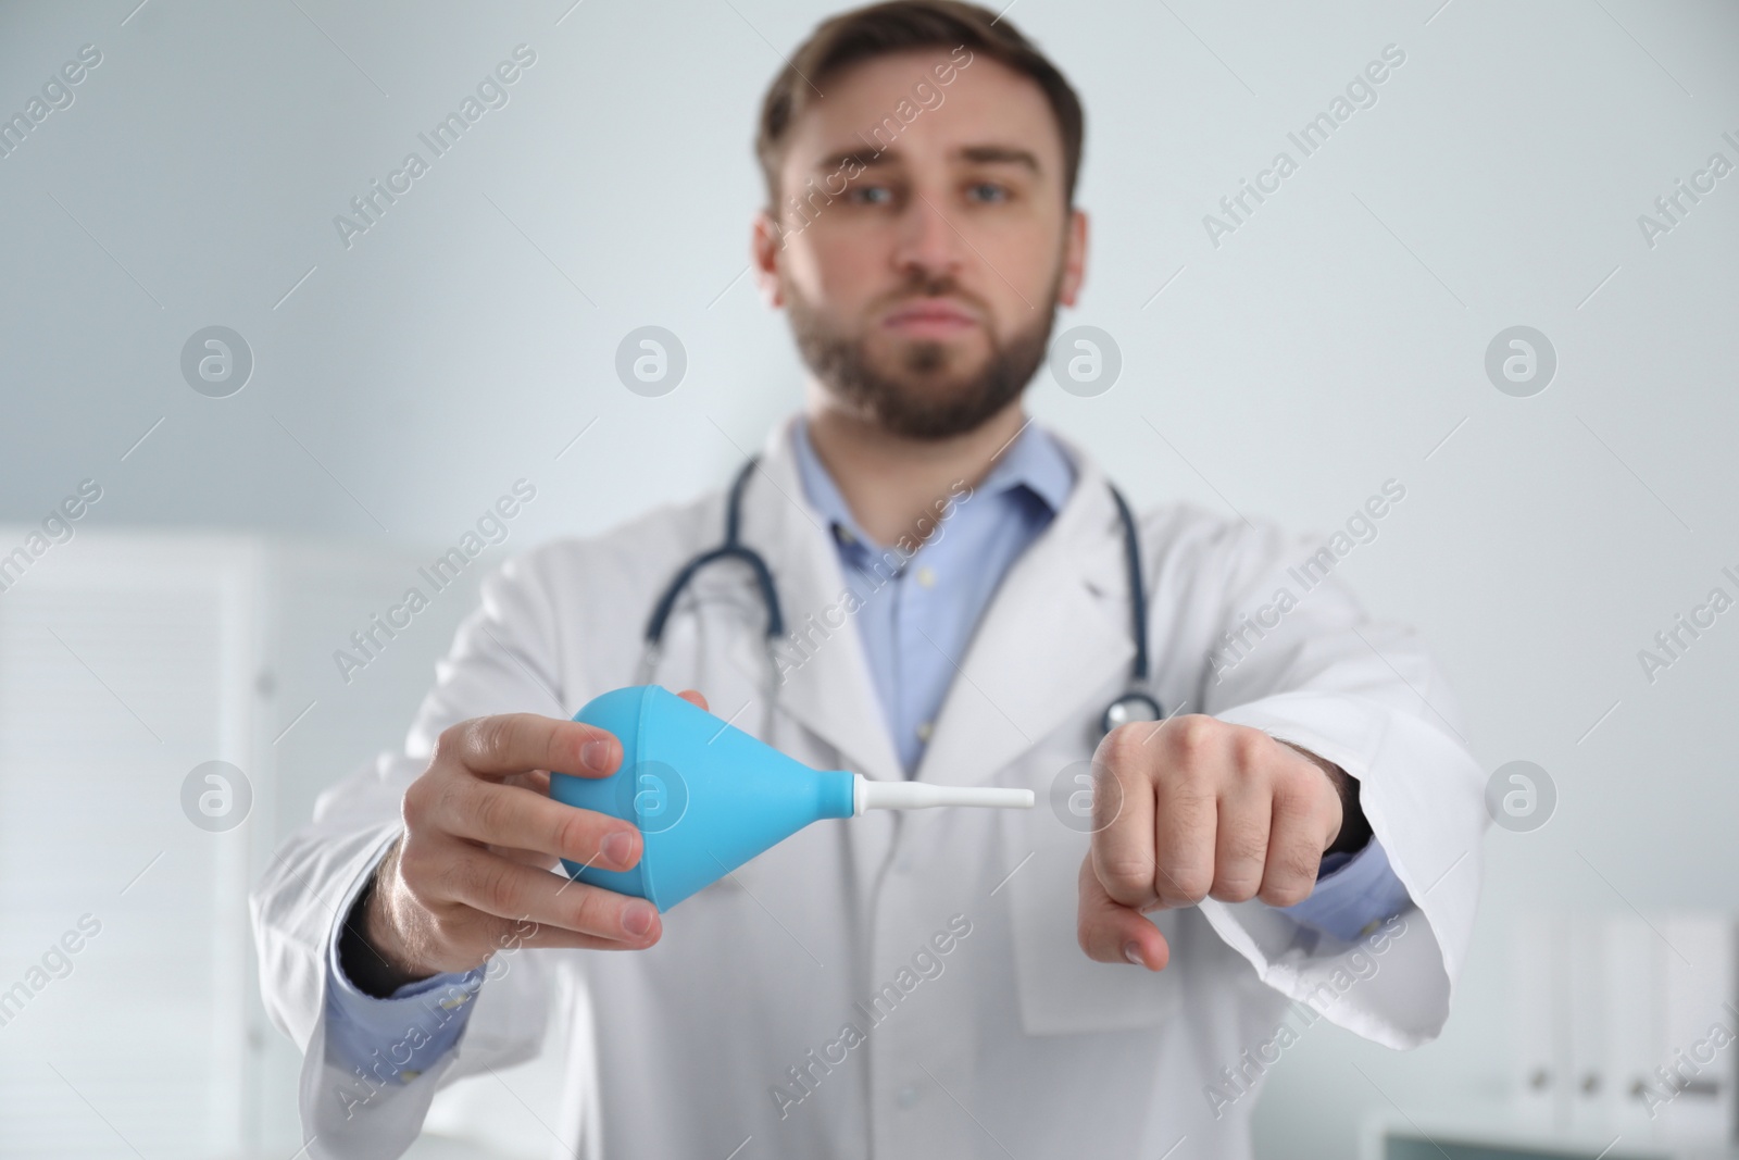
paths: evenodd
<path fill-rule="evenodd" d="M 743 539 L 767 557 L 784 614 L 786 640 L 779 645 L 786 657 L 779 664 L 784 683 L 777 704 L 845 755 L 857 772 L 901 781 L 904 770 L 870 680 L 863 638 L 842 600 L 838 548 L 796 470 L 795 421 L 774 426 L 743 497 Z M 756 656 L 758 637 L 739 635 L 734 647 L 741 663 L 753 666 L 748 671 L 767 671 L 767 657 Z"/>

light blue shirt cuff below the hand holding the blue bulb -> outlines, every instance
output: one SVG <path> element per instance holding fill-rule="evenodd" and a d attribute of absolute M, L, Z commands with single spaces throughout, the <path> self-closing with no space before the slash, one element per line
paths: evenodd
<path fill-rule="evenodd" d="M 327 1057 L 370 1083 L 409 1083 L 459 1042 L 483 967 L 436 974 L 376 998 L 344 976 L 341 930 L 327 946 Z"/>

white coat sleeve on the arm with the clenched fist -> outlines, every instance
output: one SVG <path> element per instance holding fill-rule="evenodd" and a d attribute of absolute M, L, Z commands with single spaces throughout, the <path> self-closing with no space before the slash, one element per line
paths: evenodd
<path fill-rule="evenodd" d="M 1369 523 L 1369 522 L 1367 522 Z M 1360 805 L 1410 906 L 1348 943 L 1261 901 L 1202 913 L 1259 977 L 1389 1047 L 1435 1038 L 1466 962 L 1487 824 L 1459 708 L 1417 635 L 1372 621 L 1336 565 L 1358 541 L 1233 525 L 1198 704 L 1323 757 Z M 1231 637 L 1228 637 L 1228 633 Z"/>

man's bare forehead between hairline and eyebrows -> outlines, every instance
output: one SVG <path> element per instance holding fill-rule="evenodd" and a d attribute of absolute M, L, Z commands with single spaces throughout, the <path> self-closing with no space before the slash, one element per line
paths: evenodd
<path fill-rule="evenodd" d="M 962 68 L 960 61 L 969 64 Z M 953 80 L 943 83 L 937 68 Z M 1061 174 L 1063 136 L 1043 89 L 984 52 L 953 57 L 948 49 L 918 49 L 878 56 L 826 77 L 819 89 L 826 96 L 810 92 L 791 129 L 786 172 L 809 170 L 842 151 L 882 148 L 890 160 L 897 155 L 918 162 L 996 144 L 1033 153 L 1045 177 Z"/>

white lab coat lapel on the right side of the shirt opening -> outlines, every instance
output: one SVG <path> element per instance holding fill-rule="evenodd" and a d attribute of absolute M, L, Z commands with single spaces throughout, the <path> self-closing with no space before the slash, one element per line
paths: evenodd
<path fill-rule="evenodd" d="M 1021 553 L 984 610 L 943 699 L 916 777 L 972 784 L 993 777 L 1129 671 L 1129 583 L 1104 475 L 1073 443 L 1075 489 Z M 1099 704 L 1092 704 L 1097 718 Z M 1097 734 L 1092 734 L 1097 739 Z"/>

